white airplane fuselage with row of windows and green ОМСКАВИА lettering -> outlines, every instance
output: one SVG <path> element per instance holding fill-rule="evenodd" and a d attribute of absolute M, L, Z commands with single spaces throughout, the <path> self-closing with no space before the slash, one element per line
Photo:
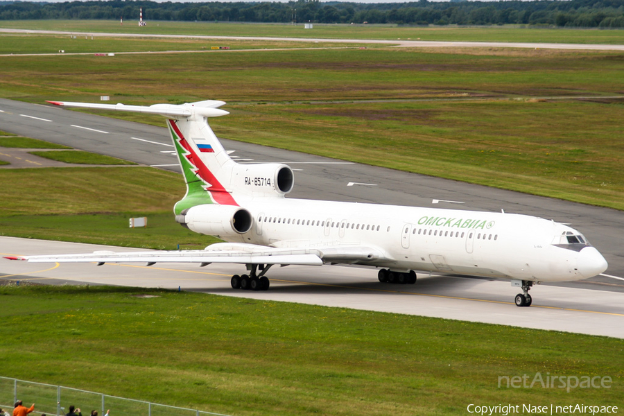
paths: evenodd
<path fill-rule="evenodd" d="M 254 224 L 244 234 L 220 235 L 225 241 L 275 248 L 362 245 L 376 252 L 352 263 L 395 271 L 569 281 L 596 275 L 605 264 L 579 232 L 532 216 L 291 198 L 254 198 L 241 206 Z M 202 232 L 200 223 L 189 227 Z M 583 243 L 569 243 L 568 236 Z"/>

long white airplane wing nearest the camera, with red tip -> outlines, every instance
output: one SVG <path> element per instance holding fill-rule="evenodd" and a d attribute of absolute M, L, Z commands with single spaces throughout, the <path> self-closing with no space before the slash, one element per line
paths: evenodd
<path fill-rule="evenodd" d="M 216 243 L 205 250 L 146 252 L 96 251 L 85 254 L 10 256 L 10 260 L 34 263 L 238 263 L 321 266 L 324 263 L 360 263 L 379 259 L 381 252 L 362 246 L 324 248 L 270 248 L 245 243 Z"/>

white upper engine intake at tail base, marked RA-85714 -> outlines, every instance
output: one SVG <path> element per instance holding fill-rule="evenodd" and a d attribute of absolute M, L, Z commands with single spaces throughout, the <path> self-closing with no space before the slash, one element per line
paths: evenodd
<path fill-rule="evenodd" d="M 284 196 L 294 184 L 293 169 L 285 164 L 236 164 L 230 187 L 252 196 Z"/>

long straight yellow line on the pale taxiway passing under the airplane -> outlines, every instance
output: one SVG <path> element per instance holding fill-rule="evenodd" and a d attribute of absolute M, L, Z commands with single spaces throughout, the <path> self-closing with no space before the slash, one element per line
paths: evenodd
<path fill-rule="evenodd" d="M 193 270 L 179 270 L 179 269 L 171 269 L 171 268 L 156 268 L 153 266 L 135 266 L 132 264 L 116 264 L 116 263 L 107 263 L 110 266 L 123 266 L 123 267 L 135 267 L 135 268 L 146 268 L 152 270 L 166 270 L 172 272 L 185 272 L 185 273 L 197 273 L 200 275 L 214 275 L 214 276 L 229 276 L 224 275 L 223 273 L 211 273 L 211 272 L 200 272 Z M 171 278 L 173 280 L 177 280 L 175 277 Z M 283 280 L 283 279 L 271 279 L 271 281 L 279 281 L 281 283 L 294 283 L 294 284 L 305 284 L 309 286 L 327 286 L 331 288 L 345 288 L 345 289 L 359 289 L 361 291 L 370 291 L 370 292 L 383 292 L 383 293 L 399 293 L 401 295 L 417 295 L 417 296 L 429 296 L 429 297 L 442 297 L 444 299 L 455 299 L 455 300 L 471 300 L 474 302 L 487 302 L 487 303 L 496 303 L 496 304 L 505 304 L 505 305 L 514 305 L 514 302 L 504 302 L 502 300 L 487 300 L 487 299 L 474 299 L 471 297 L 458 297 L 458 296 L 447 296 L 447 295 L 432 295 L 431 293 L 417 293 L 417 292 L 406 292 L 406 291 L 392 291 L 390 289 L 381 289 L 381 288 L 360 288 L 356 286 L 345 286 L 340 284 L 328 284 L 328 283 L 315 283 L 311 281 L 296 281 L 296 280 Z M 540 306 L 536 304 L 531 305 L 532 308 L 542 308 L 542 309 L 558 309 L 560 311 L 571 311 L 571 312 L 587 312 L 587 313 L 598 313 L 600 315 L 614 315 L 614 316 L 624 316 L 624 313 L 613 313 L 613 312 L 600 312 L 600 311 L 586 311 L 584 309 L 572 309 L 572 308 L 562 308 L 559 306 Z"/>

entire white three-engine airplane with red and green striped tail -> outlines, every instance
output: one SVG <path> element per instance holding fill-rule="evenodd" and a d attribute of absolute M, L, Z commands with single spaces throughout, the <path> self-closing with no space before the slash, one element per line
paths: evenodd
<path fill-rule="evenodd" d="M 267 290 L 275 264 L 358 264 L 379 268 L 379 281 L 414 284 L 419 272 L 510 279 L 530 306 L 533 284 L 587 279 L 607 261 L 575 229 L 519 214 L 399 207 L 284 198 L 294 175 L 285 164 L 237 164 L 207 123 L 229 114 L 223 101 L 150 107 L 52 102 L 165 116 L 187 193 L 175 204 L 175 220 L 193 232 L 228 243 L 205 250 L 94 252 L 11 257 L 35 262 L 239 263 L 248 274 L 232 276 L 232 288 Z"/>

